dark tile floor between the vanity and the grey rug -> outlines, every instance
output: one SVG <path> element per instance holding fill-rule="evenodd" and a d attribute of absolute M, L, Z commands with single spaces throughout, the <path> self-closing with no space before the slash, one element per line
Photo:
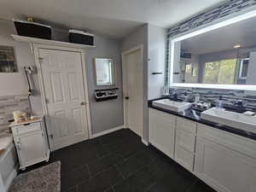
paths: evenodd
<path fill-rule="evenodd" d="M 55 160 L 61 192 L 214 192 L 129 130 L 61 148 L 51 154 Z"/>

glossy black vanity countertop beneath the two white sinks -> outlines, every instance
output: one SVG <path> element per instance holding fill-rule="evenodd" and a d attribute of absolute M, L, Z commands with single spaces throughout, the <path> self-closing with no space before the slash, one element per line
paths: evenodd
<path fill-rule="evenodd" d="M 256 140 L 256 134 L 253 132 L 243 131 L 243 130 L 236 129 L 234 127 L 230 127 L 227 125 L 220 125 L 220 124 L 212 122 L 212 121 L 201 119 L 201 117 L 200 117 L 201 113 L 192 108 L 188 108 L 184 112 L 177 113 L 177 112 L 167 110 L 165 108 L 158 108 L 158 107 L 153 106 L 152 102 L 160 100 L 160 99 L 163 99 L 163 98 L 148 101 L 148 108 L 154 108 L 154 109 L 160 110 L 162 112 L 171 113 L 171 114 L 177 115 L 178 117 L 183 117 L 184 119 L 193 120 L 195 122 L 198 122 L 198 123 L 201 123 L 204 125 L 212 126 L 219 130 L 231 132 L 231 133 L 239 135 L 241 137 L 247 137 L 247 138 Z"/>

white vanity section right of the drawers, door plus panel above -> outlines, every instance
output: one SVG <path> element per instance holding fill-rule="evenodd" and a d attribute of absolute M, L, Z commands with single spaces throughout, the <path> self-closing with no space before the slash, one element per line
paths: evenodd
<path fill-rule="evenodd" d="M 198 124 L 195 174 L 222 192 L 256 191 L 256 142 Z"/>

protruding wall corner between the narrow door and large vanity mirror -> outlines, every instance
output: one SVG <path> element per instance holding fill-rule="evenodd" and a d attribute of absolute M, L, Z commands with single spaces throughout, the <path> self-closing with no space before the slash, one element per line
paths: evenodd
<path fill-rule="evenodd" d="M 160 96 L 165 84 L 166 30 L 152 25 L 144 25 L 123 39 L 122 51 L 143 45 L 143 140 L 148 142 L 148 99 Z"/>

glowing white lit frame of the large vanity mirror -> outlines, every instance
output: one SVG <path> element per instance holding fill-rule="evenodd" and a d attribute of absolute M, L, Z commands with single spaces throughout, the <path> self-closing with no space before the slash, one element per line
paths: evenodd
<path fill-rule="evenodd" d="M 256 90 L 256 85 L 253 84 L 186 84 L 173 82 L 173 67 L 174 67 L 174 46 L 178 41 L 186 38 L 192 38 L 205 32 L 218 29 L 220 27 L 229 26 L 241 20 L 247 20 L 256 16 L 256 9 L 244 10 L 240 13 L 226 16 L 224 19 L 212 21 L 204 26 L 199 26 L 195 30 L 184 32 L 180 35 L 169 38 L 169 55 L 170 61 L 168 63 L 168 86 L 169 87 L 193 87 L 193 88 L 208 88 L 208 89 L 224 89 L 224 90 Z"/>

